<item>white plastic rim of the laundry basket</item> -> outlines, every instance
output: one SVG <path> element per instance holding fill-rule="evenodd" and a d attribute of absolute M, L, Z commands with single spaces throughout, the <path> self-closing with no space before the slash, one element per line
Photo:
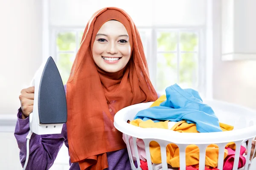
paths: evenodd
<path fill-rule="evenodd" d="M 255 111 L 253 111 L 252 109 L 240 105 L 234 105 L 228 102 L 222 102 L 217 100 L 209 101 L 219 102 L 233 107 L 239 107 L 251 113 L 255 113 Z M 123 120 L 122 116 L 124 116 L 124 114 L 127 113 L 128 110 L 134 107 L 143 107 L 143 105 L 145 107 L 147 105 L 151 105 L 152 103 L 153 102 L 139 103 L 121 109 L 114 116 L 114 126 L 117 130 L 124 134 L 127 134 L 128 136 L 133 136 L 140 139 L 160 139 L 176 144 L 212 144 L 238 141 L 242 142 L 244 139 L 250 139 L 256 136 L 256 125 L 226 132 L 179 133 L 168 129 L 136 127 L 128 124 Z"/>

